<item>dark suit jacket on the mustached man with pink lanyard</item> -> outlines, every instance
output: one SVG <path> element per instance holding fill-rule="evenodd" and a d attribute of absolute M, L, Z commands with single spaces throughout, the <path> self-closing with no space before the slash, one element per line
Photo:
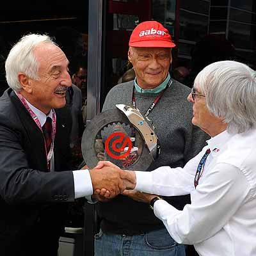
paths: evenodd
<path fill-rule="evenodd" d="M 0 98 L 0 254 L 56 255 L 63 202 L 74 201 L 68 170 L 72 119 L 56 109 L 55 172 L 47 172 L 44 137 L 12 89 Z M 36 250 L 36 252 L 35 252 Z"/>

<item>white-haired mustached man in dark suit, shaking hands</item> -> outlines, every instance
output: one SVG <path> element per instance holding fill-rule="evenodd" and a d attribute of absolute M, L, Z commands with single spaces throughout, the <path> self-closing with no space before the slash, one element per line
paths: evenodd
<path fill-rule="evenodd" d="M 10 88 L 0 98 L 0 250 L 57 255 L 65 202 L 124 189 L 122 171 L 68 169 L 68 60 L 46 35 L 27 35 L 6 59 Z"/>

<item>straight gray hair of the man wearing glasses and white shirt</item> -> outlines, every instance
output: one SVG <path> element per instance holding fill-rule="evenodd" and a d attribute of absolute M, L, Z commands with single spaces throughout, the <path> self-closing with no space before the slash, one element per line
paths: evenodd
<path fill-rule="evenodd" d="M 237 61 L 218 61 L 197 76 L 195 88 L 205 95 L 212 115 L 223 118 L 228 132 L 256 127 L 256 72 Z"/>

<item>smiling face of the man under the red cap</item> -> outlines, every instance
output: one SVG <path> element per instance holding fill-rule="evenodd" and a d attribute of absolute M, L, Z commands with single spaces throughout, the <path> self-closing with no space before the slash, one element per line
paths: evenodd
<path fill-rule="evenodd" d="M 156 88 L 163 83 L 172 63 L 171 49 L 163 47 L 130 47 L 128 59 L 143 89 Z"/>

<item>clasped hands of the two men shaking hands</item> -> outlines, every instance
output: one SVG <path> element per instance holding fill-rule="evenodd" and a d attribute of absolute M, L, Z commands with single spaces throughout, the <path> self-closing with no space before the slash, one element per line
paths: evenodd
<path fill-rule="evenodd" d="M 99 161 L 95 168 L 89 170 L 92 179 L 93 194 L 113 198 L 125 189 L 136 186 L 135 172 L 121 170 L 109 161 Z"/>

